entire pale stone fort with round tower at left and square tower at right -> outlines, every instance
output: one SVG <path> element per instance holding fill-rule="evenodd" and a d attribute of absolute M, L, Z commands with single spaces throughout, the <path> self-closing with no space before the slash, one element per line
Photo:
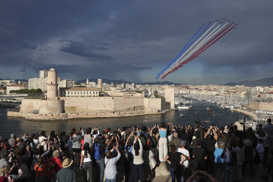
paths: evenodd
<path fill-rule="evenodd" d="M 32 120 L 72 119 L 95 117 L 119 117 L 156 114 L 174 109 L 174 87 L 165 88 L 165 98 L 138 96 L 59 97 L 57 71 L 48 71 L 47 96 L 45 99 L 22 99 L 19 112 L 8 116 Z"/>

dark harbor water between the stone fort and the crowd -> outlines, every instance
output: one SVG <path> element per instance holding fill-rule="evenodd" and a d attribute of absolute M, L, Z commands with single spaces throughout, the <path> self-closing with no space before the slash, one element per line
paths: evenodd
<path fill-rule="evenodd" d="M 155 123 L 165 122 L 168 123 L 172 120 L 174 125 L 179 124 L 180 126 L 186 126 L 191 124 L 195 125 L 194 120 L 199 118 L 203 126 L 210 126 L 216 124 L 216 126 L 223 127 L 229 123 L 234 123 L 238 121 L 240 115 L 245 118 L 248 116 L 238 113 L 231 110 L 223 110 L 221 107 L 214 105 L 213 103 L 193 99 L 191 103 L 194 110 L 174 110 L 165 114 L 153 114 L 153 115 L 143 115 L 143 116 L 131 116 L 131 117 L 119 117 L 119 118 L 98 118 L 98 119 L 73 119 L 73 120 L 60 120 L 60 121 L 28 121 L 23 118 L 10 117 L 7 116 L 8 111 L 19 110 L 17 108 L 0 108 L 0 136 L 10 138 L 10 134 L 14 133 L 17 136 L 22 136 L 24 133 L 36 133 L 46 130 L 49 134 L 51 130 L 65 131 L 69 133 L 72 128 L 79 129 L 82 128 L 97 126 L 102 132 L 105 128 L 110 127 L 111 130 L 116 130 L 117 128 L 122 128 L 122 126 L 148 126 L 153 127 Z M 211 111 L 207 111 L 206 107 L 210 107 Z M 196 108 L 199 108 L 199 111 L 202 114 L 196 114 Z M 220 116 L 211 116 L 210 112 L 218 113 Z M 184 117 L 179 117 L 183 113 Z M 210 120 L 210 123 L 204 123 L 203 120 Z"/>

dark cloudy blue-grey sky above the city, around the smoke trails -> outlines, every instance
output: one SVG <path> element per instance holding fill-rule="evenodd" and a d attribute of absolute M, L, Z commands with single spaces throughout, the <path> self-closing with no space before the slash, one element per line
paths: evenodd
<path fill-rule="evenodd" d="M 58 77 L 226 84 L 273 77 L 273 1 L 3 0 L 0 78 Z M 156 80 L 200 28 L 238 23 L 213 46 Z M 224 20 L 221 20 L 224 21 Z"/>

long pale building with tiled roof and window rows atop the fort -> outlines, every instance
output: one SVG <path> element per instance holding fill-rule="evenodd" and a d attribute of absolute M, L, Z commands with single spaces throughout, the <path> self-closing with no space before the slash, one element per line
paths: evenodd
<path fill-rule="evenodd" d="M 100 89 L 94 87 L 59 88 L 59 97 L 98 97 Z"/>

